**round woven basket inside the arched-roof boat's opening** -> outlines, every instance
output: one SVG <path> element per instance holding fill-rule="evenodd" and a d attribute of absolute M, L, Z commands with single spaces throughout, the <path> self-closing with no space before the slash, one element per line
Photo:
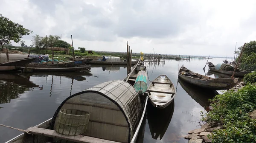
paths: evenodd
<path fill-rule="evenodd" d="M 76 109 L 62 109 L 59 113 L 56 132 L 62 135 L 81 135 L 86 132 L 90 113 Z"/>

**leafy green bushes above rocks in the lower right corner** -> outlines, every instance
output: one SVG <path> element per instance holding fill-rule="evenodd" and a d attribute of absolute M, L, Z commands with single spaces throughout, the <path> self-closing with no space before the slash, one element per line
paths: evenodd
<path fill-rule="evenodd" d="M 210 102 L 212 110 L 202 114 L 202 121 L 223 126 L 212 132 L 212 143 L 256 143 L 256 120 L 248 114 L 256 109 L 255 85 L 229 90 Z"/>

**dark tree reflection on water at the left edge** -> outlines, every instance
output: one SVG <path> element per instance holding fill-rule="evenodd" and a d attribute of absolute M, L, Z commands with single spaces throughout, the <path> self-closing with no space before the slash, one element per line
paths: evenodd
<path fill-rule="evenodd" d="M 39 87 L 26 78 L 17 74 L 0 74 L 0 104 L 9 103 L 12 99 L 20 98 L 20 94 L 30 91 L 33 87 Z"/>

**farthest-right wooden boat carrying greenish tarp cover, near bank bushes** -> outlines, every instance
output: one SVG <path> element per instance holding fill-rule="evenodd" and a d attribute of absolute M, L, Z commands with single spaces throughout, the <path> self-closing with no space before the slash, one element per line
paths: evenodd
<path fill-rule="evenodd" d="M 217 73 L 224 73 L 224 74 L 231 75 L 231 76 L 233 75 L 233 71 L 234 70 L 233 71 L 221 70 L 222 63 L 214 65 L 212 62 L 207 62 L 207 64 L 208 64 L 208 67 L 209 67 L 210 71 L 217 72 Z M 226 66 L 229 66 L 229 67 L 231 67 L 233 69 L 235 68 L 232 65 L 228 65 L 228 64 Z M 222 67 L 224 67 L 224 66 L 222 66 Z M 243 77 L 247 73 L 251 73 L 251 71 L 246 71 L 246 70 L 242 70 L 242 69 L 236 68 L 234 76 Z"/>

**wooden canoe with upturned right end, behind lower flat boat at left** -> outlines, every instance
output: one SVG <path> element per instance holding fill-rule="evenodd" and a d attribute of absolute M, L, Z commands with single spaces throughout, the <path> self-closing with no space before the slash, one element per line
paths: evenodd
<path fill-rule="evenodd" d="M 92 61 L 93 59 L 79 59 L 79 60 L 75 60 L 73 62 L 67 62 L 67 63 L 63 63 L 63 64 L 36 64 L 36 63 L 30 63 L 27 64 L 26 67 L 50 67 L 50 68 L 54 68 L 54 67 L 76 67 L 79 65 L 84 65 L 87 64 L 88 62 Z"/>

